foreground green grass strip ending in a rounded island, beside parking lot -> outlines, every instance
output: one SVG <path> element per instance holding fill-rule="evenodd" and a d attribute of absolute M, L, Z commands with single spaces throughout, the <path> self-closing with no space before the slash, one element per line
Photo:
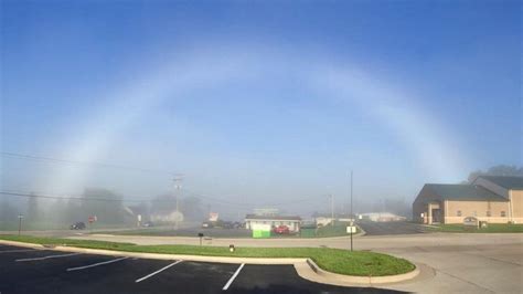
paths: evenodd
<path fill-rule="evenodd" d="M 234 253 L 228 248 L 196 245 L 136 245 L 90 240 L 70 240 L 30 235 L 0 235 L 0 240 L 19 241 L 38 244 L 62 244 L 68 246 L 118 250 L 126 252 L 189 254 L 206 256 L 235 258 L 310 258 L 321 269 L 346 275 L 383 276 L 410 272 L 414 264 L 404 259 L 369 252 L 348 251 L 329 248 L 236 248 Z"/>

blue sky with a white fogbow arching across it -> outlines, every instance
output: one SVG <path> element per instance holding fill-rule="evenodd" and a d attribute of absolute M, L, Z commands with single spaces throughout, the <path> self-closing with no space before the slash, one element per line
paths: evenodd
<path fill-rule="evenodd" d="M 2 1 L 2 150 L 206 195 L 408 201 L 523 165 L 519 1 Z M 168 176 L 2 158 L 9 189 Z M 188 188 L 189 189 L 189 188 Z"/>

